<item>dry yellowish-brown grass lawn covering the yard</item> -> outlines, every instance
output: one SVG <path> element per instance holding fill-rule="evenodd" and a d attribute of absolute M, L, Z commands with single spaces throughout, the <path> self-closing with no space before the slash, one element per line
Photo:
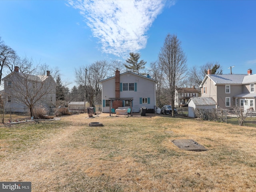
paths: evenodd
<path fill-rule="evenodd" d="M 167 116 L 87 117 L 1 127 L 0 180 L 31 181 L 33 192 L 256 190 L 256 128 Z M 173 139 L 193 139 L 208 151 L 179 150 Z"/>

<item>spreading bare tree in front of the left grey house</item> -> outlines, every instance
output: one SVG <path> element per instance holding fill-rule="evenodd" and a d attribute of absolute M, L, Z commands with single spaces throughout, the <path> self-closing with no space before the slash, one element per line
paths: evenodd
<path fill-rule="evenodd" d="M 56 83 L 50 76 L 38 76 L 38 65 L 33 65 L 24 72 L 14 71 L 5 77 L 11 82 L 5 89 L 5 96 L 10 97 L 12 103 L 17 106 L 25 105 L 30 110 L 30 116 L 34 116 L 34 107 L 53 106 L 56 100 Z"/>

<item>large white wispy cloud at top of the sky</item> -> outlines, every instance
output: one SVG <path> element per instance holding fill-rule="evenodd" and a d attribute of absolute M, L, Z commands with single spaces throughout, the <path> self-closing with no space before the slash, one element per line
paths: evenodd
<path fill-rule="evenodd" d="M 164 8 L 164 0 L 70 0 L 86 18 L 102 51 L 127 56 L 146 47 L 146 32 Z"/>

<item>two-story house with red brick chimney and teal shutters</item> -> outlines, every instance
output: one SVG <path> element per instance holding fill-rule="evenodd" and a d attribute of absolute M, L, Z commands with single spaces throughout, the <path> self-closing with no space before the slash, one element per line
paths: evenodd
<path fill-rule="evenodd" d="M 120 74 L 100 81 L 102 84 L 102 112 L 111 108 L 130 107 L 132 112 L 140 112 L 141 107 L 156 110 L 156 80 L 148 75 L 132 72 Z"/>

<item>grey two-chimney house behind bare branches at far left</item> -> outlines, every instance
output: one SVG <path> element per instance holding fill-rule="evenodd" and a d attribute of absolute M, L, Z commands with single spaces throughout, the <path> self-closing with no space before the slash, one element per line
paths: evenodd
<path fill-rule="evenodd" d="M 4 81 L 4 107 L 12 112 L 27 112 L 28 103 L 35 100 L 33 108 L 52 108 L 56 104 L 56 82 L 47 71 L 47 75 L 34 76 L 19 72 L 18 66 L 14 72 L 2 79 Z M 21 100 L 24 100 L 22 102 Z"/>

